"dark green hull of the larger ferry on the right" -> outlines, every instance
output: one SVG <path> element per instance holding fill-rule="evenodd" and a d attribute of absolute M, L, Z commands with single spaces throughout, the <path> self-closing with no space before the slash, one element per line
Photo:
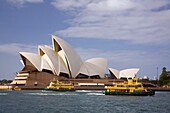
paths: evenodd
<path fill-rule="evenodd" d="M 127 95 L 127 96 L 153 96 L 155 95 L 154 91 L 148 92 L 108 92 L 104 91 L 105 95 Z"/>

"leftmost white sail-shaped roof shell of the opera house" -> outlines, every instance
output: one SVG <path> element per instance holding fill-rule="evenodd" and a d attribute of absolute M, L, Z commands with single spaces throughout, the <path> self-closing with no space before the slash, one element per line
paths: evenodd
<path fill-rule="evenodd" d="M 34 66 L 38 71 L 41 71 L 41 56 L 35 53 L 29 53 L 29 52 L 19 52 L 22 58 L 22 61 L 24 65 L 30 65 L 27 64 L 27 60 Z"/>

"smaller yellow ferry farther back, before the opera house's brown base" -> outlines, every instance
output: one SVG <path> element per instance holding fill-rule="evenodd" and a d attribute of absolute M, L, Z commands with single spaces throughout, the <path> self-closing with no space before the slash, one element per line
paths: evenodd
<path fill-rule="evenodd" d="M 45 90 L 51 91 L 75 91 L 74 85 L 72 83 L 63 83 L 59 82 L 58 80 L 52 81 Z"/>

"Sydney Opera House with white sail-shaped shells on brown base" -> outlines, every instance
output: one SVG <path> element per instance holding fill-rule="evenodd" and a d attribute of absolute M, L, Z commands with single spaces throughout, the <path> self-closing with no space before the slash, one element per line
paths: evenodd
<path fill-rule="evenodd" d="M 38 46 L 38 54 L 20 52 L 24 65 L 11 84 L 18 86 L 47 86 L 54 79 L 82 82 L 97 80 L 108 82 L 105 78 L 107 59 L 92 58 L 82 61 L 74 48 L 63 39 L 52 35 L 52 46 Z M 133 78 L 139 69 L 118 71 L 109 68 L 113 79 Z M 91 81 L 91 82 L 93 82 Z"/>

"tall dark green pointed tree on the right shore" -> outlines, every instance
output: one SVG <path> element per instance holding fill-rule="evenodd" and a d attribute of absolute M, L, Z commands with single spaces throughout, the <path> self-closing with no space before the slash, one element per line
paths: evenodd
<path fill-rule="evenodd" d="M 163 67 L 162 68 L 162 73 L 160 75 L 159 81 L 158 81 L 158 85 L 162 86 L 167 84 L 167 72 L 166 72 L 166 68 Z"/>

